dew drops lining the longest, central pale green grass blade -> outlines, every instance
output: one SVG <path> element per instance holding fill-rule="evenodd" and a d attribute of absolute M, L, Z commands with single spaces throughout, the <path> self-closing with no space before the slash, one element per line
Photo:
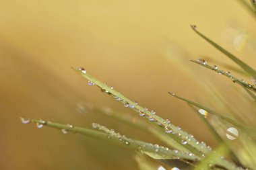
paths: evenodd
<path fill-rule="evenodd" d="M 203 60 L 203 59 L 200 59 L 200 62 L 202 63 L 205 63 L 206 65 L 206 61 Z M 78 71 L 81 71 L 82 73 L 86 74 L 86 70 L 83 68 L 83 67 L 79 67 L 77 69 Z M 92 81 L 88 81 L 88 85 L 94 85 L 95 83 L 92 82 Z M 112 86 L 110 86 L 110 89 L 113 89 Z M 101 89 L 103 92 L 105 93 L 108 93 L 110 94 L 109 91 L 107 91 L 106 89 Z M 170 93 L 171 95 L 175 95 L 174 93 Z M 121 101 L 123 103 L 123 105 L 125 106 L 125 108 L 135 108 L 135 105 L 137 105 L 137 101 L 134 101 L 133 103 L 134 104 L 130 104 L 128 103 L 127 101 L 123 101 L 123 99 L 121 99 L 120 97 L 118 96 L 115 96 L 114 97 L 117 101 Z M 179 131 L 181 132 L 181 128 L 179 126 L 177 126 L 177 130 L 178 132 L 174 132 L 174 130 L 172 130 L 172 128 L 170 128 L 171 126 L 171 123 L 170 123 L 170 120 L 166 119 L 164 120 L 164 124 L 162 124 L 161 122 L 158 122 L 154 117 L 156 116 L 156 111 L 155 110 L 151 110 L 151 114 L 152 116 L 147 116 L 146 115 L 146 112 L 148 112 L 148 108 L 144 108 L 143 110 L 139 110 L 139 116 L 143 116 L 143 117 L 146 117 L 148 118 L 148 120 L 150 120 L 151 122 L 157 122 L 158 126 L 161 126 L 164 128 L 164 131 L 167 133 L 167 134 L 177 134 L 179 137 L 182 137 L 182 134 L 179 133 Z M 207 148 L 208 151 L 212 151 L 212 148 L 210 146 L 206 146 L 205 142 L 199 142 L 198 140 L 196 140 L 192 134 L 187 134 L 187 132 L 183 132 L 185 133 L 185 138 L 181 140 L 181 144 L 185 145 L 187 144 L 188 142 L 190 142 L 192 139 L 195 141 L 195 144 L 201 146 L 201 148 Z M 202 155 L 202 157 L 205 157 L 205 155 Z"/>

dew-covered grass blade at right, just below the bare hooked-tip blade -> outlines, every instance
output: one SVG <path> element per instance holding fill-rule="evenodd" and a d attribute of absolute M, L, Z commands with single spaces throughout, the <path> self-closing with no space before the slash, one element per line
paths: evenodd
<path fill-rule="evenodd" d="M 237 79 L 236 77 L 234 77 L 233 75 L 230 74 L 229 71 L 223 71 L 221 69 L 218 69 L 217 66 L 210 66 L 207 65 L 206 62 L 201 62 L 200 60 L 191 60 L 191 62 L 195 62 L 198 65 L 201 65 L 207 69 L 210 69 L 212 71 L 216 71 L 216 73 L 220 74 L 220 75 L 224 75 L 226 77 L 228 77 L 228 79 L 231 79 L 234 83 L 238 83 L 239 85 L 242 85 L 243 87 L 246 87 L 247 89 L 253 90 L 256 92 L 256 87 L 255 85 L 251 85 L 247 82 L 245 82 L 243 79 Z"/>

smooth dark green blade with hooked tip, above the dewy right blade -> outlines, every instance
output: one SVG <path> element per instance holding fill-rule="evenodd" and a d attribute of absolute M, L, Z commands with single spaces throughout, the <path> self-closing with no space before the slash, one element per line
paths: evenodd
<path fill-rule="evenodd" d="M 240 60 L 239 58 L 237 58 L 236 56 L 234 56 L 233 54 L 231 54 L 230 52 L 222 48 L 220 45 L 216 44 L 216 42 L 210 40 L 210 38 L 207 38 L 205 35 L 201 34 L 201 32 L 197 30 L 196 26 L 191 26 L 191 28 L 192 30 L 195 31 L 195 33 L 201 36 L 201 38 L 209 42 L 212 46 L 217 48 L 220 52 L 228 56 L 228 58 L 236 62 L 236 64 L 239 65 L 245 72 L 247 72 L 252 77 L 256 77 L 256 71 L 253 68 L 249 67 L 249 65 L 247 65 L 245 62 L 243 62 L 243 60 Z"/>

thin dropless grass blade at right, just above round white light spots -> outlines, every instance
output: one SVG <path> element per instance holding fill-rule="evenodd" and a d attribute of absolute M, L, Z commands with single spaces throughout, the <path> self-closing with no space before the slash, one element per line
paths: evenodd
<path fill-rule="evenodd" d="M 245 124 L 242 124 L 240 122 L 237 122 L 236 120 L 233 120 L 231 118 L 228 118 L 226 116 L 223 116 L 222 114 L 218 114 L 217 112 L 215 112 L 214 110 L 211 110 L 209 108 L 206 108 L 205 106 L 199 104 L 199 103 L 195 103 L 194 101 L 191 101 L 189 99 L 185 99 L 183 97 L 180 97 L 178 95 L 175 95 L 174 93 L 170 93 L 168 92 L 170 95 L 172 95 L 173 97 L 177 97 L 178 99 L 181 99 L 183 101 L 186 101 L 187 103 L 191 103 L 192 105 L 195 105 L 197 108 L 201 108 L 205 111 L 207 111 L 208 113 L 210 114 L 213 114 L 214 116 L 218 116 L 219 118 L 221 118 L 222 120 L 226 121 L 226 122 L 229 122 L 230 124 L 233 124 L 234 126 L 238 127 L 238 128 L 241 128 L 243 130 L 246 130 L 247 133 L 250 133 L 252 134 L 254 137 L 256 136 L 256 130 L 255 128 L 251 128 L 250 126 L 247 126 Z"/>

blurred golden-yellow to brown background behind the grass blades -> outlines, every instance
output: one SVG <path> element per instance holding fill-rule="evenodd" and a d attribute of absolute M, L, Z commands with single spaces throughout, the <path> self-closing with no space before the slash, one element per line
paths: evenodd
<path fill-rule="evenodd" d="M 88 103 L 131 111 L 89 87 L 71 67 L 84 67 L 211 146 L 215 140 L 203 123 L 168 91 L 234 112 L 248 124 L 255 121 L 245 114 L 255 113 L 255 108 L 241 87 L 189 62 L 205 58 L 224 70 L 226 65 L 238 68 L 191 30 L 189 25 L 196 24 L 256 67 L 256 22 L 237 1 L 2 0 L 0 13 L 0 169 L 137 167 L 134 152 L 127 148 L 47 127 L 38 130 L 21 124 L 20 116 L 87 128 L 98 122 L 133 138 L 159 142 L 148 132 L 82 112 Z"/>

